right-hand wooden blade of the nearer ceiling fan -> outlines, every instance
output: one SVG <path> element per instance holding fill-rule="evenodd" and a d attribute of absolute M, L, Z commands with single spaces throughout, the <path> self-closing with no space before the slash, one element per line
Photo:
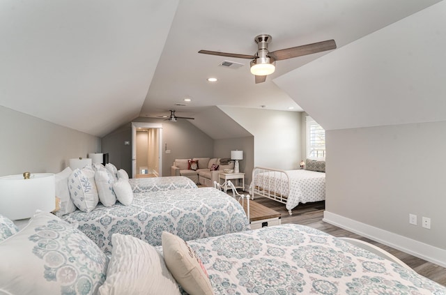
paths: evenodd
<path fill-rule="evenodd" d="M 273 57 L 276 61 L 282 61 L 284 59 L 292 59 L 293 57 L 334 49 L 336 49 L 336 43 L 334 40 L 326 40 L 318 43 L 286 48 L 284 50 L 276 50 L 270 52 L 268 55 Z"/>

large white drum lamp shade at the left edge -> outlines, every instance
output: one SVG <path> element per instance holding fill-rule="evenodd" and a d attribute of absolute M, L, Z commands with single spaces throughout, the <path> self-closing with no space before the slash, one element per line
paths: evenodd
<path fill-rule="evenodd" d="M 0 213 L 10 220 L 30 218 L 36 210 L 55 208 L 55 179 L 52 173 L 0 177 Z"/>

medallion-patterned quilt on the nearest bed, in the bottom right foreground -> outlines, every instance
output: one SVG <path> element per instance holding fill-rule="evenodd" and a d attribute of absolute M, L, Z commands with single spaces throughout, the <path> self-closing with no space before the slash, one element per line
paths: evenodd
<path fill-rule="evenodd" d="M 446 294 L 412 269 L 303 225 L 187 243 L 201 258 L 215 295 Z"/>

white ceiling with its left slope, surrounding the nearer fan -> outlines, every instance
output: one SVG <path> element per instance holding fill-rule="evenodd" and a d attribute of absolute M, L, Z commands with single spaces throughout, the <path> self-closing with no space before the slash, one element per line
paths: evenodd
<path fill-rule="evenodd" d="M 98 136 L 172 108 L 202 130 L 220 123 L 204 114 L 215 105 L 301 111 L 298 90 L 291 98 L 272 80 L 328 52 L 277 61 L 262 84 L 249 60 L 222 68 L 225 58 L 197 52 L 254 54 L 260 33 L 272 36 L 270 50 L 328 39 L 341 48 L 436 2 L 2 0 L 0 105 Z M 192 102 L 175 106 L 185 97 Z"/>

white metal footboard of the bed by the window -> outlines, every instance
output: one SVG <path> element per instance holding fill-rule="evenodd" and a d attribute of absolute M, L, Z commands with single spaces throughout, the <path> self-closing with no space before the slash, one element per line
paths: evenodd
<path fill-rule="evenodd" d="M 266 177 L 262 177 L 262 179 L 260 179 L 259 174 L 262 174 Z M 282 184 L 282 181 L 277 180 L 281 179 L 281 177 L 278 177 L 280 176 L 280 174 L 284 174 L 286 176 L 286 179 L 288 180 L 286 181 L 286 183 L 288 183 L 288 186 L 284 186 Z M 266 183 L 266 181 L 269 182 L 270 179 L 273 179 L 272 188 L 275 188 L 275 190 L 271 189 L 270 183 Z M 252 169 L 252 182 L 251 186 L 249 187 L 252 199 L 254 199 L 254 195 L 260 195 L 262 197 L 272 199 L 276 202 L 286 204 L 286 200 L 288 199 L 287 194 L 289 194 L 290 192 L 290 186 L 290 177 L 285 170 L 265 167 L 254 167 L 254 169 Z M 290 213 L 290 215 L 293 214 L 291 210 L 289 210 L 288 212 Z"/>

